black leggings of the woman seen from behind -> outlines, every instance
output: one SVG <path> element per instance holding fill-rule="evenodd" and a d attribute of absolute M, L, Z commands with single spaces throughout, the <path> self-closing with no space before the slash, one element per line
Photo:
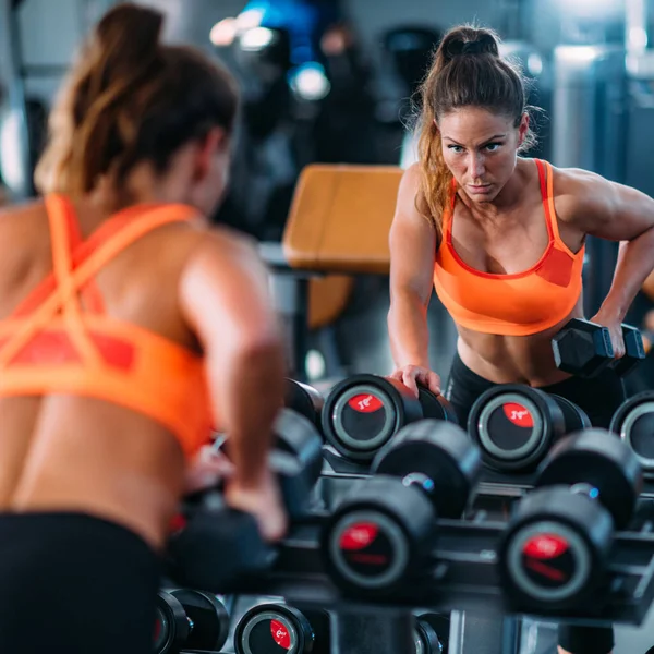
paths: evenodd
<path fill-rule="evenodd" d="M 152 654 L 160 565 L 82 513 L 0 514 L 0 652 Z"/>

